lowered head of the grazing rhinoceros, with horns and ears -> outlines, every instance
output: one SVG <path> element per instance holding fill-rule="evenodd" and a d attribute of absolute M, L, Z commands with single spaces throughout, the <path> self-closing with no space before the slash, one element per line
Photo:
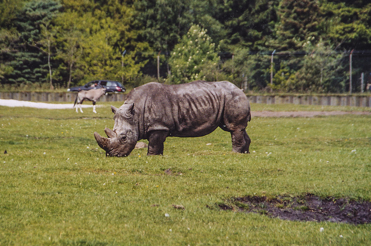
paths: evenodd
<path fill-rule="evenodd" d="M 111 106 L 111 109 L 115 114 L 113 130 L 107 127 L 104 129 L 108 138 L 95 132 L 95 140 L 108 156 L 128 156 L 138 141 L 138 124 L 134 120 L 134 104 L 124 103 L 119 109 L 114 106 Z"/>

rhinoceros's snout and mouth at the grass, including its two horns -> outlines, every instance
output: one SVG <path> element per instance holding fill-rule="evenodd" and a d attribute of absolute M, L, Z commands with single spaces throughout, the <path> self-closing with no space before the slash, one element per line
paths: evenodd
<path fill-rule="evenodd" d="M 99 147 L 106 151 L 107 156 L 126 157 L 135 147 L 135 143 L 128 140 L 122 141 L 118 138 L 117 133 L 109 128 L 104 129 L 107 137 L 102 137 L 98 132 L 94 132 L 94 137 Z"/>

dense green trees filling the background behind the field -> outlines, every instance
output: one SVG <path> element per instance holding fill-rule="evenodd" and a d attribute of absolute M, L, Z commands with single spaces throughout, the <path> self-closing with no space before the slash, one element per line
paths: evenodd
<path fill-rule="evenodd" d="M 1 84 L 138 86 L 159 71 L 171 83 L 198 74 L 249 90 L 345 92 L 353 49 L 352 91 L 364 89 L 362 72 L 371 82 L 367 0 L 7 0 L 0 16 Z M 220 56 L 204 57 L 204 74 L 196 64 L 197 71 L 176 67 L 191 55 L 172 55 L 193 24 Z M 197 51 L 189 45 L 189 54 Z"/>

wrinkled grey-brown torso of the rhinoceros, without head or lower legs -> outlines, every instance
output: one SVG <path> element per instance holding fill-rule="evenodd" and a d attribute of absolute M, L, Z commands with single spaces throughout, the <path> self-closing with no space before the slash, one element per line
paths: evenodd
<path fill-rule="evenodd" d="M 250 115 L 246 96 L 228 81 L 151 82 L 135 88 L 127 100 L 140 109 L 141 138 L 151 130 L 168 131 L 168 136 L 204 136 L 218 126 L 246 127 Z"/>

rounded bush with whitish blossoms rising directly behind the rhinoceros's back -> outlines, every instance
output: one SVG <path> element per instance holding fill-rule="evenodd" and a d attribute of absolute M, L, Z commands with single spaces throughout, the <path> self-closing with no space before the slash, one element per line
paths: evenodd
<path fill-rule="evenodd" d="M 192 25 L 180 43 L 175 45 L 169 59 L 169 82 L 180 84 L 204 80 L 210 69 L 218 68 L 218 49 L 206 32 L 207 29 Z"/>

